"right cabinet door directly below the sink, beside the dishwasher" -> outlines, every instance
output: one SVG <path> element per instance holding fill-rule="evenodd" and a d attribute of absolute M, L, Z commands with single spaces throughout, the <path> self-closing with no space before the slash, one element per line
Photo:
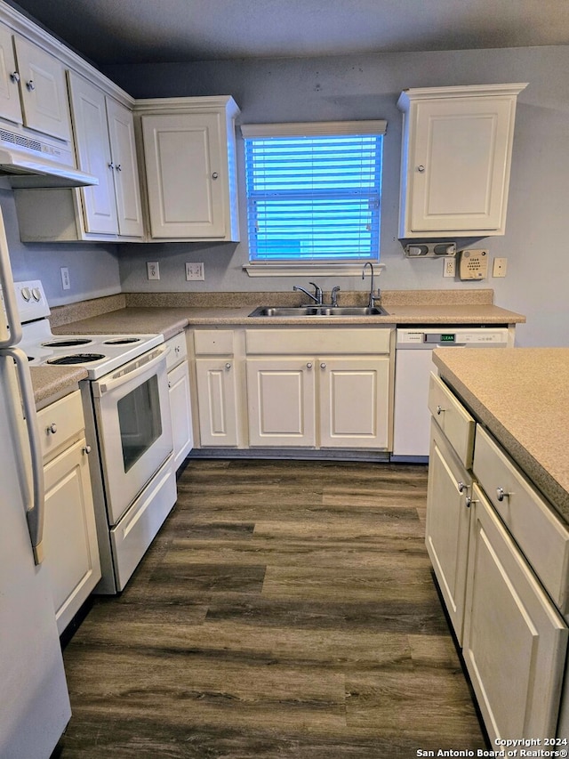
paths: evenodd
<path fill-rule="evenodd" d="M 388 448 L 389 356 L 317 359 L 320 445 Z"/>

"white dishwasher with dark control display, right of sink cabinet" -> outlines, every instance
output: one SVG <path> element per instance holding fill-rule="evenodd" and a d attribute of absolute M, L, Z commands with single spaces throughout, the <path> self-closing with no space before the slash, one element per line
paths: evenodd
<path fill-rule="evenodd" d="M 437 373 L 432 351 L 457 348 L 506 348 L 508 327 L 408 327 L 397 329 L 395 408 L 391 461 L 427 461 L 430 413 L 429 375 Z"/>

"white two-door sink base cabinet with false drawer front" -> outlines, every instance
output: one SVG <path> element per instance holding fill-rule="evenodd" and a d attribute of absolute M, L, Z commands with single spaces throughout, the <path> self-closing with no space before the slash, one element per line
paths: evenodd
<path fill-rule="evenodd" d="M 245 343 L 251 446 L 389 448 L 389 328 L 247 329 Z"/>

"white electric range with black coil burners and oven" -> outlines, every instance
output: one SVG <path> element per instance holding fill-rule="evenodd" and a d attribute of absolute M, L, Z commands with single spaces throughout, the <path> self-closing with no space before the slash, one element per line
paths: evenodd
<path fill-rule="evenodd" d="M 53 335 L 42 283 L 15 289 L 29 366 L 88 374 L 79 386 L 102 571 L 95 593 L 117 593 L 176 500 L 164 335 Z"/>

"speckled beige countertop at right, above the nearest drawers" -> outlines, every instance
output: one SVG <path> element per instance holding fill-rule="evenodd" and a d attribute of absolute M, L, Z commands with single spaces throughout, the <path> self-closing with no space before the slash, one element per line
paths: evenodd
<path fill-rule="evenodd" d="M 569 522 L 569 348 L 439 348 L 433 360 Z"/>

